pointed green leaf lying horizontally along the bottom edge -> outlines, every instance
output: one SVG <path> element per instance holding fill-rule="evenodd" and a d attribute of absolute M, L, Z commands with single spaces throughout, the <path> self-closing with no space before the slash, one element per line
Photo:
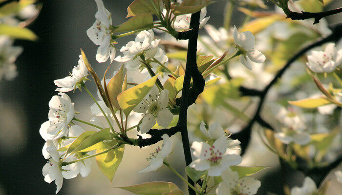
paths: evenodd
<path fill-rule="evenodd" d="M 154 181 L 117 188 L 127 190 L 137 195 L 181 195 L 179 194 L 179 188 L 176 186 L 176 184 L 163 181 Z M 178 194 L 170 194 L 171 192 L 178 192 Z"/>

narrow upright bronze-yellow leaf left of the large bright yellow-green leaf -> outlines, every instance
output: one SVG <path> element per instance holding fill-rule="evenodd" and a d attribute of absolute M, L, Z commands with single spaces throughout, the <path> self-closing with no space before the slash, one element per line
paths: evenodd
<path fill-rule="evenodd" d="M 116 73 L 116 75 L 113 78 L 111 78 L 107 84 L 107 91 L 108 91 L 110 102 L 117 109 L 120 109 L 117 98 L 118 98 L 118 95 L 122 92 L 122 85 L 124 84 L 125 75 L 126 75 L 125 66 L 121 66 L 119 72 Z"/>

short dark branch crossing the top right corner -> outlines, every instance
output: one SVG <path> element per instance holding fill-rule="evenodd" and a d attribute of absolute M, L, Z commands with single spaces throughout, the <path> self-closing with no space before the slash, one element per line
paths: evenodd
<path fill-rule="evenodd" d="M 337 9 L 333 9 L 333 10 L 329 10 L 329 11 L 325 11 L 325 12 L 293 12 L 291 10 L 288 10 L 289 13 L 286 13 L 287 17 L 286 18 L 290 18 L 292 20 L 305 20 L 305 19 L 310 19 L 313 18 L 315 19 L 314 24 L 317 24 L 320 22 L 320 20 L 326 16 L 330 16 L 330 15 L 334 15 L 334 14 L 338 14 L 342 12 L 342 7 L 337 8 Z"/>

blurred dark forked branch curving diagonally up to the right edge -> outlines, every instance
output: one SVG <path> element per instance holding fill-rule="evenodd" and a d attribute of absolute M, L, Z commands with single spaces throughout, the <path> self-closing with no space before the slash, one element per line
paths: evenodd
<path fill-rule="evenodd" d="M 300 56 L 305 54 L 307 51 L 309 51 L 310 49 L 312 49 L 314 47 L 320 46 L 323 43 L 330 42 L 330 41 L 337 42 L 339 39 L 341 39 L 341 37 L 342 37 L 342 33 L 341 33 L 342 32 L 342 24 L 337 24 L 336 26 L 331 27 L 331 29 L 332 29 L 332 34 L 329 35 L 328 37 L 323 38 L 323 39 L 319 39 L 318 41 L 315 41 L 315 42 L 307 45 L 306 47 L 302 48 L 301 50 L 299 50 L 291 59 L 289 59 L 287 61 L 287 63 L 284 65 L 284 67 L 278 71 L 276 76 L 264 88 L 264 90 L 261 93 L 257 92 L 257 95 L 255 95 L 255 96 L 258 96 L 260 98 L 260 101 L 258 103 L 254 117 L 250 120 L 250 122 L 248 123 L 248 125 L 244 129 L 242 129 L 240 132 L 238 132 L 236 134 L 233 134 L 233 136 L 232 136 L 232 138 L 238 139 L 241 142 L 241 145 L 240 145 L 241 146 L 241 155 L 244 154 L 244 152 L 248 146 L 249 140 L 251 138 L 251 131 L 252 131 L 252 127 L 253 127 L 254 122 L 258 122 L 262 126 L 266 125 L 265 121 L 260 116 L 260 112 L 261 112 L 263 103 L 266 99 L 266 95 L 267 95 L 268 91 L 270 90 L 270 88 L 274 84 L 277 83 L 278 79 L 281 78 L 281 76 L 291 66 L 291 64 L 294 61 L 296 61 Z M 241 88 L 240 88 L 240 90 L 241 90 Z M 253 91 L 250 89 L 247 90 L 245 88 L 242 88 L 242 90 L 244 90 L 245 92 Z M 244 93 L 244 92 L 242 92 L 242 93 Z M 268 126 L 268 125 L 266 125 L 266 126 Z M 269 126 L 269 127 L 271 127 L 271 126 Z"/>

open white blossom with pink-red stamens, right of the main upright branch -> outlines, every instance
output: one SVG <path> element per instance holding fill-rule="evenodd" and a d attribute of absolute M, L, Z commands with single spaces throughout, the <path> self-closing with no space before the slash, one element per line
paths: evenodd
<path fill-rule="evenodd" d="M 239 155 L 229 154 L 230 149 L 225 137 L 217 139 L 212 146 L 194 141 L 191 148 L 197 159 L 189 166 L 197 171 L 208 170 L 208 176 L 220 176 L 227 167 L 237 165 L 242 160 Z"/>

